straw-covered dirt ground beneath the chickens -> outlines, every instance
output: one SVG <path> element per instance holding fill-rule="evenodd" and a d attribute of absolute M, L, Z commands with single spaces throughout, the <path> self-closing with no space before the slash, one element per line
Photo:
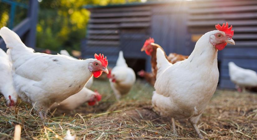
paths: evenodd
<path fill-rule="evenodd" d="M 24 103 L 7 108 L 0 101 L 0 140 L 12 139 L 16 124 L 22 127 L 22 139 L 63 139 L 67 130 L 78 140 L 198 139 L 187 120 L 176 120 L 178 136 L 172 133 L 170 118 L 152 110 L 154 89 L 145 82 L 137 81 L 120 101 L 115 100 L 107 81 L 95 80 L 92 89 L 103 95 L 98 105 L 85 103 L 70 112 L 56 110 L 45 120 Z M 257 94 L 217 90 L 198 128 L 210 140 L 257 139 Z"/>

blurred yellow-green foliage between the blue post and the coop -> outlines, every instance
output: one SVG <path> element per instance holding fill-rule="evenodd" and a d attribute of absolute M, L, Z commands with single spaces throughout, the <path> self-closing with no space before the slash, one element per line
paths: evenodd
<path fill-rule="evenodd" d="M 139 2 L 140 0 L 42 0 L 37 24 L 36 47 L 59 51 L 80 49 L 86 36 L 90 12 L 84 5 Z"/>

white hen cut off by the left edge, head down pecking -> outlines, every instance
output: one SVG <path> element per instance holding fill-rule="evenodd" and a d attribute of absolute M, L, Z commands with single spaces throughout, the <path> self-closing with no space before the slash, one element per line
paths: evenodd
<path fill-rule="evenodd" d="M 7 100 L 7 106 L 16 105 L 18 94 L 12 79 L 12 63 L 2 49 L 0 49 L 0 77 L 0 93 Z"/>

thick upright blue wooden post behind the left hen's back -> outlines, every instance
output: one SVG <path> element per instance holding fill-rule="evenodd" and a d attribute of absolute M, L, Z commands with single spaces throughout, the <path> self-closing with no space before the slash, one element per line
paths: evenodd
<path fill-rule="evenodd" d="M 27 33 L 25 44 L 28 47 L 36 47 L 36 24 L 37 24 L 37 14 L 38 14 L 38 1 L 30 0 L 28 17 L 30 18 L 30 30 Z"/>

